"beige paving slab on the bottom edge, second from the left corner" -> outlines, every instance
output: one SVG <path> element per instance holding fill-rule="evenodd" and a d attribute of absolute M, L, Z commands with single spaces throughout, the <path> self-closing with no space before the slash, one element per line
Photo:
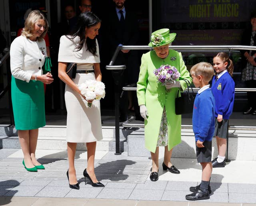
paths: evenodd
<path fill-rule="evenodd" d="M 88 199 L 84 198 L 47 198 L 41 197 L 32 206 L 84 206 Z"/>

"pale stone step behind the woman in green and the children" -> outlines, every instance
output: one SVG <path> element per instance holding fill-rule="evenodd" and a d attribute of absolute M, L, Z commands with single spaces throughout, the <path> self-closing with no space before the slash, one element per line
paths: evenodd
<path fill-rule="evenodd" d="M 149 157 L 150 152 L 144 147 L 144 129 L 133 131 L 128 135 L 128 156 Z M 181 130 L 181 143 L 174 147 L 172 157 L 196 158 L 195 139 L 192 129 Z M 256 132 L 246 129 L 229 129 L 228 159 L 256 161 Z M 164 147 L 159 148 L 160 155 Z M 212 140 L 212 156 L 218 155 L 216 139 Z"/>

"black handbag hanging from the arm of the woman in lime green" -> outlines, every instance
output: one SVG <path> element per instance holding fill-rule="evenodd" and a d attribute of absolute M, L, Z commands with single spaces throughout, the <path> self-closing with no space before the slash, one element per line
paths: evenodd
<path fill-rule="evenodd" d="M 178 96 L 175 99 L 175 113 L 176 115 L 180 114 L 190 114 L 193 112 L 193 106 L 194 106 L 194 100 L 196 97 L 196 94 L 194 94 L 193 88 L 190 84 L 190 82 L 186 79 L 183 79 L 188 87 L 188 90 L 186 92 L 180 92 L 178 91 Z M 190 93 L 189 85 L 192 91 L 192 94 Z M 179 97 L 180 92 L 180 97 Z"/>

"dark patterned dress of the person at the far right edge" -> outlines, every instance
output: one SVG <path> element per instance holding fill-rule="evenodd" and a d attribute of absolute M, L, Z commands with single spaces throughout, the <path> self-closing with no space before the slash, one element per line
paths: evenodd
<path fill-rule="evenodd" d="M 254 36 L 256 34 L 256 31 L 252 31 L 251 35 L 251 46 L 254 45 Z M 252 50 L 250 50 L 249 55 L 252 55 Z M 242 71 L 242 81 L 248 81 L 248 80 L 256 80 L 256 67 L 252 66 L 249 62 L 247 62 L 246 67 Z"/>

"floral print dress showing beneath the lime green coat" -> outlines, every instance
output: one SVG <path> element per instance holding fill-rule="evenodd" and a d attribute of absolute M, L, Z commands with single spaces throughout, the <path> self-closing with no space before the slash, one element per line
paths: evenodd
<path fill-rule="evenodd" d="M 168 145 L 168 128 L 167 128 L 166 110 L 164 107 L 156 147 L 167 146 L 167 145 Z"/>

